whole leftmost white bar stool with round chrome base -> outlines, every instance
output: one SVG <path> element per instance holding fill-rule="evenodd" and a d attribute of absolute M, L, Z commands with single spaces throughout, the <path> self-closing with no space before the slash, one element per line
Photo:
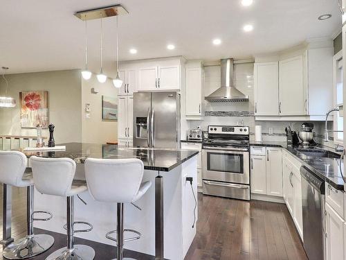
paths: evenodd
<path fill-rule="evenodd" d="M 54 243 L 53 236 L 34 234 L 34 220 L 50 220 L 52 215 L 47 211 L 34 209 L 34 180 L 31 173 L 26 173 L 28 160 L 24 153 L 0 150 L 0 182 L 15 187 L 27 187 L 26 214 L 28 233 L 23 239 L 10 243 L 3 250 L 6 259 L 27 259 L 46 252 Z M 48 218 L 34 218 L 35 213 L 49 214 Z"/>

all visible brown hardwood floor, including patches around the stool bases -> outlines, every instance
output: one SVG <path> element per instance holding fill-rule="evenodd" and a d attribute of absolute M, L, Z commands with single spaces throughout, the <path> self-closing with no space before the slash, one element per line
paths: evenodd
<path fill-rule="evenodd" d="M 0 200 L 2 204 L 2 186 L 0 186 Z M 201 193 L 198 200 L 197 236 L 185 260 L 307 259 L 286 205 L 257 200 L 251 202 L 231 200 L 203 196 Z M 2 207 L 0 213 L 2 214 Z M 42 231 L 36 229 L 35 232 Z M 17 239 L 25 235 L 26 189 L 14 188 L 12 236 Z M 45 259 L 48 254 L 65 245 L 66 236 L 56 233 L 52 235 L 55 237 L 53 248 L 35 259 Z M 96 252 L 95 259 L 106 260 L 115 257 L 115 247 L 110 245 L 82 239 L 75 239 L 75 243 L 91 245 Z M 152 256 L 128 250 L 125 251 L 125 257 L 140 260 L 154 259 Z"/>

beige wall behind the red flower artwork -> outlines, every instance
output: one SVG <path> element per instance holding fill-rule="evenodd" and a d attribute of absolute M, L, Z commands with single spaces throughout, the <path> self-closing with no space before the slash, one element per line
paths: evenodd
<path fill-rule="evenodd" d="M 17 101 L 13 108 L 0 108 L 0 135 L 36 135 L 35 128 L 21 128 L 19 92 L 47 90 L 49 121 L 55 125 L 55 143 L 82 141 L 81 76 L 79 70 L 46 71 L 7 75 L 8 94 Z M 0 96 L 6 84 L 0 79 Z M 48 137 L 48 130 L 43 131 Z"/>

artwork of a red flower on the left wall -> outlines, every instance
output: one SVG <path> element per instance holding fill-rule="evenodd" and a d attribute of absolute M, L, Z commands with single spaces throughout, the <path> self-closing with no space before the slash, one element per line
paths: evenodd
<path fill-rule="evenodd" d="M 48 127 L 47 91 L 19 92 L 19 102 L 22 128 L 36 128 L 37 125 L 42 125 L 43 128 Z"/>

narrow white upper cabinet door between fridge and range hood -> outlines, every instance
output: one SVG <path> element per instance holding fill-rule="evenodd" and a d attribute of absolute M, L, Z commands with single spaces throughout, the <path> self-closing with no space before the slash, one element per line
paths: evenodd
<path fill-rule="evenodd" d="M 201 62 L 186 65 L 186 116 L 201 119 L 203 104 L 204 71 Z"/>

